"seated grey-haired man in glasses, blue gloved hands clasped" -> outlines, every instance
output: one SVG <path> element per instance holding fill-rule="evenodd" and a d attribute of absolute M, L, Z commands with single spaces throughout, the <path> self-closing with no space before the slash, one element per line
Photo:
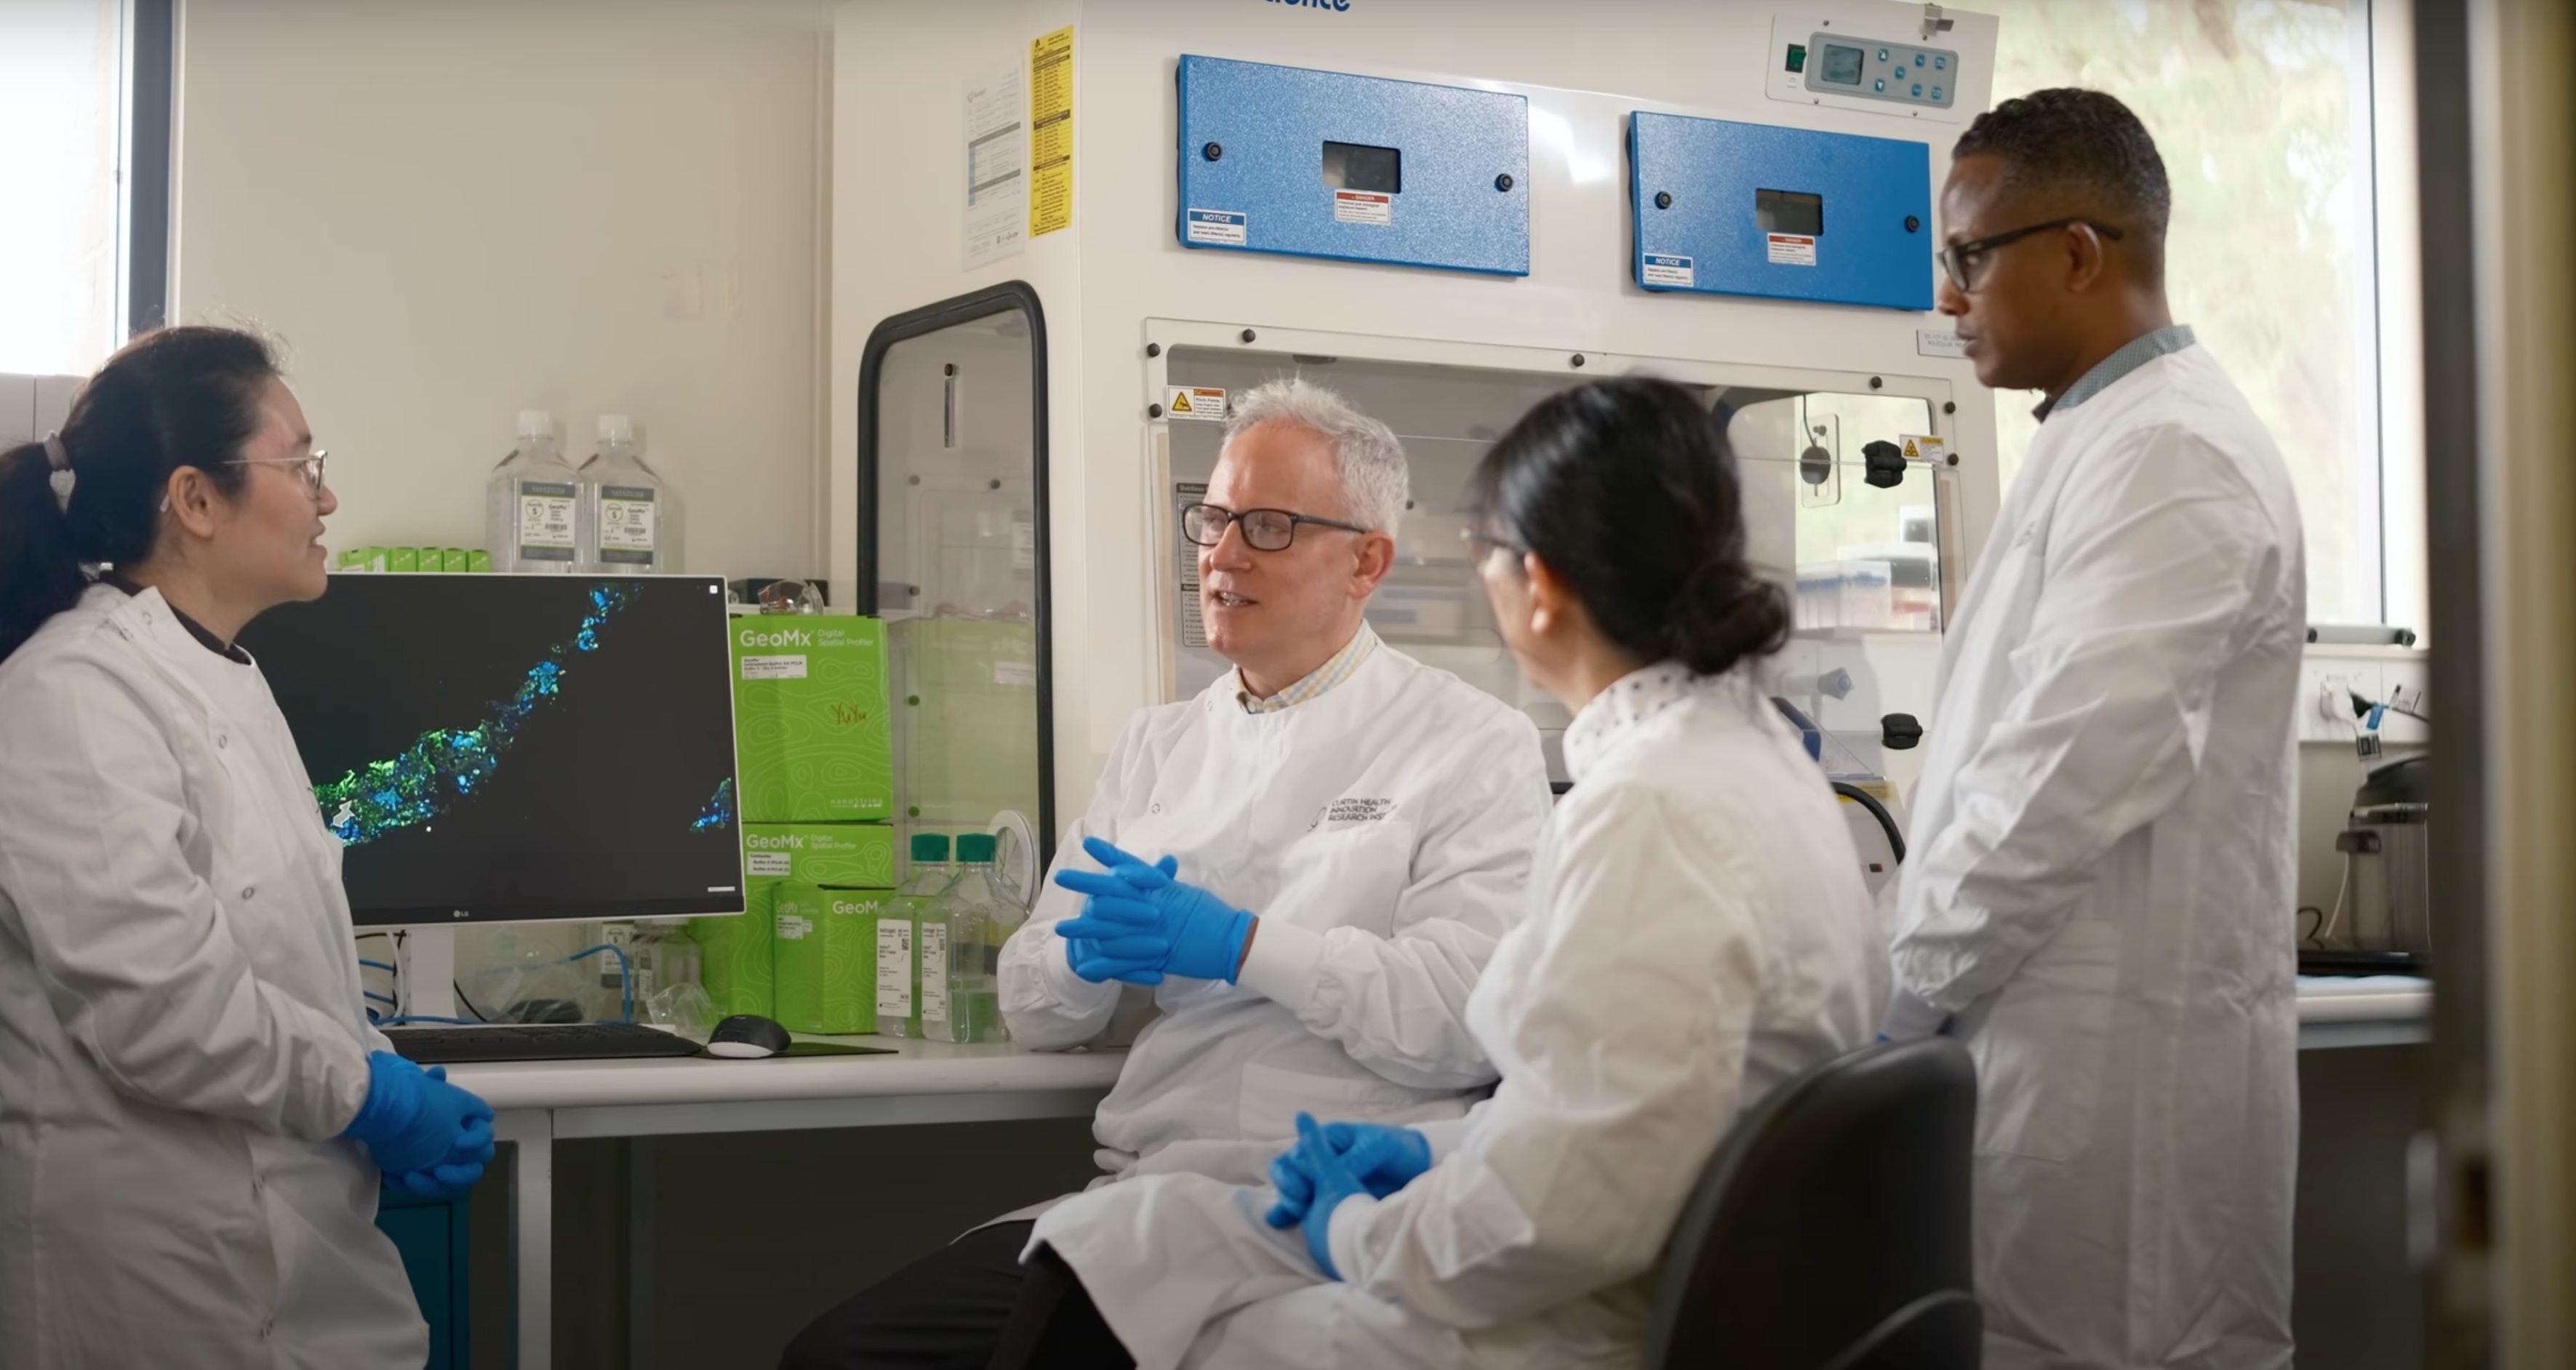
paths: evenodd
<path fill-rule="evenodd" d="M 1025 1046 L 1159 1012 L 1092 1125 L 1095 1185 L 1262 1185 L 1298 1112 L 1461 1118 L 1494 1084 L 1463 1012 L 1522 917 L 1548 770 L 1528 716 L 1363 621 L 1406 489 L 1383 422 L 1273 381 L 1234 399 L 1206 502 L 1182 510 L 1208 646 L 1234 670 L 1128 724 L 1002 948 Z M 781 1365 L 984 1365 L 1036 1213 L 845 1300 Z"/>

